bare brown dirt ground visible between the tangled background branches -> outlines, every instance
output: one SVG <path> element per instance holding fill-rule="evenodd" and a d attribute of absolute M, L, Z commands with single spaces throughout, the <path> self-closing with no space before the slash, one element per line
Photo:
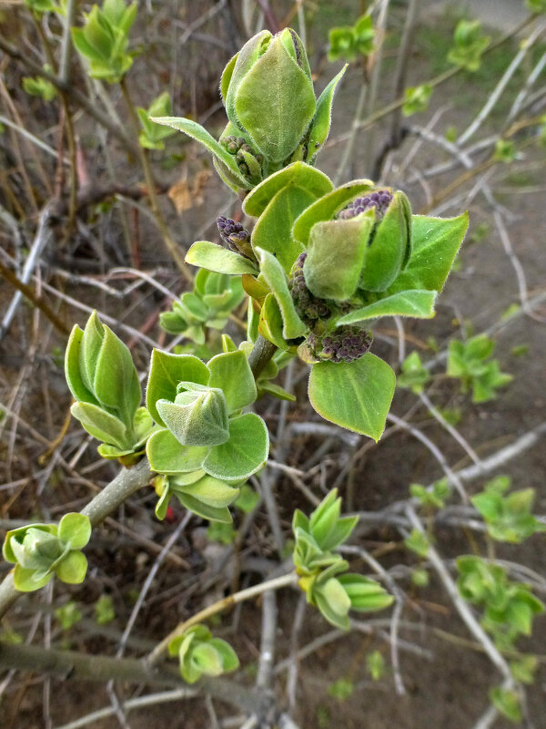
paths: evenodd
<path fill-rule="evenodd" d="M 515 0 L 514 0 L 515 2 Z M 342 3 L 347 11 L 349 3 Z M 349 8 L 350 9 L 350 8 Z M 329 22 L 329 18 L 324 22 Z M 443 21 L 442 21 L 443 22 Z M 315 45 L 315 58 L 319 59 L 320 46 L 324 43 L 324 36 L 320 36 L 320 27 L 312 27 L 312 39 Z M 411 70 L 409 84 L 422 80 L 430 72 L 434 73 L 434 61 L 427 53 L 430 51 L 431 29 L 428 26 L 420 28 L 415 51 L 411 56 Z M 512 46 L 513 47 L 513 46 Z M 392 54 L 386 59 L 386 73 L 392 65 Z M 389 66 L 390 64 L 390 66 Z M 327 77 L 332 76 L 332 67 L 326 68 L 318 86 L 323 87 Z M 479 108 L 476 100 L 486 98 L 487 90 L 494 85 L 490 77 L 480 77 L 479 85 L 476 82 L 475 97 L 469 96 L 468 77 L 453 79 L 445 87 L 435 91 L 433 104 L 429 111 L 415 118 L 415 123 L 426 126 L 435 111 L 445 108 L 439 131 L 444 131 L 450 125 L 464 128 L 464 120 L 471 118 L 472 111 Z M 331 138 L 349 128 L 352 119 L 355 99 L 359 92 L 359 74 L 350 73 L 340 87 L 336 101 Z M 389 87 L 384 89 L 385 99 L 389 98 Z M 495 116 L 486 124 L 486 128 L 494 128 Z M 219 126 L 221 116 L 210 119 L 210 127 Z M 467 122 L 468 123 L 468 122 Z M 381 145 L 381 129 L 375 131 L 375 145 Z M 396 163 L 404 159 L 404 155 L 414 144 L 415 139 L 409 138 L 401 149 L 396 152 L 393 170 Z M 339 147 L 327 149 L 321 159 L 321 169 L 333 173 L 339 160 Z M 357 148 L 353 169 L 355 175 L 367 176 L 367 160 L 363 152 L 366 145 L 362 143 Z M 544 151 L 537 152 L 532 149 L 533 159 L 526 157 L 516 162 L 510 168 L 507 166 L 504 180 L 496 177 L 498 200 L 511 211 L 511 221 L 508 232 L 511 242 L 521 265 L 525 271 L 527 286 L 531 293 L 543 290 L 546 280 L 546 253 L 544 233 L 546 231 L 546 206 L 544 200 Z M 188 161 L 190 176 L 198 169 L 202 169 L 203 159 L 191 153 Z M 424 147 L 421 156 L 416 161 L 419 169 L 426 169 L 441 159 L 437 149 Z M 531 164 L 532 162 L 532 164 Z M 536 164 L 535 164 L 536 163 Z M 166 177 L 177 179 L 176 172 L 167 172 Z M 396 177 L 396 174 L 393 174 Z M 447 181 L 447 179 L 446 179 Z M 440 180 L 443 184 L 444 180 Z M 414 209 L 420 210 L 425 202 L 420 184 L 407 186 L 405 191 L 414 201 Z M 206 201 L 196 210 L 189 210 L 183 219 L 173 216 L 173 226 L 180 233 L 180 240 L 185 244 L 190 242 L 199 231 L 205 237 L 207 231 L 202 231 L 207 222 L 207 216 L 217 211 L 221 201 L 225 198 L 217 180 L 212 177 L 207 182 L 204 191 Z M 445 210 L 442 215 L 456 214 L 459 208 Z M 490 212 L 483 198 L 478 196 L 470 207 L 470 235 L 460 254 L 459 270 L 452 273 L 446 289 L 441 295 L 438 314 L 432 322 L 411 322 L 406 326 L 407 334 L 426 341 L 428 337 L 435 336 L 441 344 L 452 334 L 456 333 L 461 323 L 471 324 L 476 332 L 481 332 L 491 323 L 495 323 L 507 307 L 518 302 L 517 281 L 513 272 L 511 261 L 503 251 L 500 237 L 490 224 L 490 233 L 483 241 L 472 242 L 471 234 L 477 229 L 480 222 L 489 221 Z M 157 251 L 152 242 L 142 241 L 143 251 L 141 262 L 143 268 L 167 262 L 167 256 Z M 177 281 L 178 290 L 182 283 Z M 84 293 L 85 292 L 85 293 Z M 89 303 L 95 293 L 85 289 L 80 292 Z M 74 293 L 73 293 L 74 295 Z M 2 294 L 5 301 L 5 294 Z M 102 306 L 104 302 L 100 303 Z M 151 312 L 157 307 L 157 301 L 148 302 L 140 310 Z M 139 314 L 141 315 L 141 314 Z M 81 316 L 80 323 L 84 317 Z M 387 327 L 385 327 L 387 329 Z M 379 328 L 380 330 L 380 328 Z M 390 332 L 385 332 L 389 336 Z M 476 448 L 480 455 L 486 456 L 495 449 L 506 445 L 511 440 L 523 435 L 533 426 L 537 426 L 544 419 L 546 394 L 544 391 L 544 363 L 546 362 L 546 337 L 544 324 L 522 316 L 501 330 L 496 338 L 497 350 L 503 371 L 514 375 L 512 384 L 501 396 L 490 403 L 481 406 L 470 405 L 468 396 L 460 395 L 456 386 L 446 378 L 439 378 L 435 384 L 435 393 L 438 402 L 443 407 L 460 407 L 462 419 L 458 425 L 460 433 Z M 524 356 L 514 356 L 511 351 L 514 346 L 528 344 L 529 352 Z M 383 350 L 383 351 L 382 351 Z M 393 358 L 393 348 L 388 344 L 379 343 L 378 354 Z M 426 353 L 425 353 L 426 354 Z M 14 345 L 5 360 L 5 367 L 9 370 L 9 378 L 13 381 L 17 376 L 20 363 L 24 361 L 25 353 Z M 52 417 L 55 422 L 62 423 L 63 414 L 68 403 L 64 390 L 62 376 L 58 369 L 47 366 L 42 369 L 43 382 L 51 388 L 54 398 L 52 404 Z M 413 402 L 411 395 L 398 391 L 392 406 L 396 414 L 405 412 Z M 435 400 L 436 402 L 436 400 Z M 27 412 L 28 420 L 36 429 L 44 424 L 44 416 Z M 422 421 L 427 421 L 427 414 L 421 410 Z M 468 465 L 468 459 L 460 448 L 453 443 L 450 436 L 443 432 L 433 420 L 425 424 L 425 432 L 439 445 L 448 457 L 450 464 L 462 467 Z M 71 430 L 72 437 L 77 438 L 77 429 Z M 319 446 L 309 439 L 302 448 L 296 443 L 288 454 L 288 463 L 298 465 Z M 28 458 L 34 457 L 32 448 L 25 450 Z M 334 454 L 335 455 L 335 454 Z M 20 461 L 24 456 L 20 457 Z M 24 467 L 19 462 L 19 467 Z M 101 477 L 107 478 L 107 469 L 101 471 Z M 531 448 L 522 457 L 514 460 L 502 469 L 503 473 L 511 475 L 515 488 L 535 488 L 537 492 L 536 511 L 546 513 L 546 448 L 537 446 Z M 374 510 L 384 508 L 398 498 L 407 498 L 410 483 L 428 484 L 441 476 L 440 469 L 430 457 L 429 452 L 416 445 L 415 440 L 408 434 L 397 434 L 381 442 L 379 447 L 369 451 L 365 458 L 358 462 L 355 472 L 354 508 L 361 510 Z M 18 477 L 16 474 L 13 476 Z M 470 485 L 470 493 L 480 490 L 481 481 Z M 346 484 L 342 485 L 345 488 Z M 74 498 L 84 498 L 85 492 L 78 491 Z M 39 497 L 42 504 L 43 497 Z M 60 499 L 62 501 L 62 498 Z M 65 499 L 66 500 L 66 499 Z M 142 515 L 139 509 L 151 513 L 151 504 L 154 499 L 151 495 L 141 498 L 138 508 L 133 509 L 128 516 L 127 523 L 136 531 L 143 532 L 150 539 L 162 540 L 165 530 L 154 525 L 149 526 L 149 519 Z M 280 504 L 281 518 L 287 524 L 295 506 L 307 508 L 307 504 L 288 480 L 278 481 L 278 503 Z M 22 504 L 22 506 L 25 506 Z M 22 508 L 22 510 L 24 510 Z M 24 514 L 10 512 L 11 518 L 23 518 Z M 74 599 L 83 604 L 91 605 L 98 597 L 100 586 L 111 591 L 116 596 L 116 609 L 118 615 L 112 629 L 123 630 L 124 619 L 130 611 L 130 606 L 124 607 L 124 597 L 130 586 L 140 585 L 149 566 L 149 556 L 140 556 L 130 539 L 123 538 L 117 532 L 105 529 L 105 534 L 97 540 L 96 546 L 90 550 L 89 559 L 93 567 L 94 586 L 81 589 L 71 589 Z M 268 542 L 267 521 L 257 521 L 253 532 L 253 539 L 268 556 L 268 549 L 272 553 Z M 209 565 L 199 550 L 196 549 L 198 534 L 191 539 L 184 538 L 180 545 L 180 554 L 189 560 L 192 566 L 205 574 Z M 261 541 L 260 541 L 261 539 Z M 404 553 L 400 546 L 399 535 L 390 529 L 369 531 L 364 538 L 364 545 L 370 549 L 379 549 L 381 562 L 390 567 L 400 562 L 414 564 L 415 560 Z M 470 544 L 464 534 L 457 529 L 440 529 L 437 533 L 437 547 L 446 557 L 454 557 L 470 550 Z M 546 564 L 546 539 L 534 537 L 525 545 L 511 549 L 501 548 L 500 556 L 506 553 L 507 559 L 517 560 L 533 570 L 544 574 Z M 215 558 L 217 559 L 217 558 Z M 357 569 L 365 570 L 355 563 Z M 108 573 L 106 574 L 106 570 Z M 165 626 L 174 624 L 181 614 L 191 611 L 192 589 L 188 575 L 180 576 L 169 567 L 167 574 L 158 579 L 157 595 L 149 601 L 147 608 L 142 612 L 137 622 L 136 632 L 141 637 L 154 640 L 165 632 Z M 182 596 L 176 592 L 177 583 L 188 585 L 182 590 Z M 117 584 L 116 584 L 117 583 Z M 450 602 L 441 586 L 431 575 L 430 586 L 427 590 L 418 591 L 410 586 L 410 581 L 402 583 L 410 595 L 410 605 L 404 613 L 404 619 L 411 623 L 409 628 L 401 627 L 400 639 L 419 644 L 425 654 L 415 655 L 410 651 L 401 652 L 401 673 L 406 693 L 396 695 L 392 672 L 389 668 L 389 646 L 377 636 L 351 632 L 347 637 L 314 652 L 308 659 L 301 662 L 299 667 L 298 704 L 294 713 L 294 720 L 301 729 L 422 729 L 430 727 L 436 729 L 461 729 L 472 727 L 489 705 L 488 691 L 499 683 L 499 677 L 491 669 L 490 662 L 475 647 L 463 646 L 457 642 L 470 641 L 470 637 L 461 625 L 457 615 L 454 614 Z M 161 596 L 164 596 L 161 601 Z M 175 596 L 173 599 L 173 595 Z M 198 593 L 197 593 L 197 600 Z M 283 591 L 278 598 L 279 627 L 278 627 L 278 655 L 282 660 L 288 656 L 290 649 L 290 628 L 292 616 L 296 610 L 297 597 Z M 374 616 L 375 617 L 375 616 Z M 380 616 L 378 616 L 380 617 Z M 28 624 L 28 621 L 25 621 Z M 525 645 L 520 642 L 521 650 L 530 650 L 544 658 L 546 656 L 546 619 L 538 619 L 532 643 Z M 446 631 L 440 633 L 433 629 Z M 252 604 L 245 605 L 242 611 L 226 616 L 220 625 L 220 634 L 227 637 L 238 651 L 241 665 L 247 666 L 240 673 L 241 683 L 252 685 L 258 652 L 258 636 L 260 630 L 260 612 Z M 316 611 L 308 610 L 304 630 L 301 632 L 299 644 L 315 639 L 319 634 L 328 631 L 328 626 L 321 620 Z M 71 647 L 89 652 L 106 650 L 111 646 L 108 638 L 79 639 Z M 372 682 L 366 671 L 365 656 L 368 652 L 379 649 L 385 656 L 388 670 L 385 677 L 379 682 Z M 354 683 L 354 692 L 349 698 L 340 701 L 329 695 L 329 687 L 339 678 L 349 678 Z M 278 693 L 285 694 L 286 673 L 278 677 Z M 75 717 L 109 705 L 106 690 L 99 684 L 79 682 L 58 682 L 53 680 L 51 714 L 54 726 L 60 726 Z M 44 720 L 41 712 L 43 684 L 41 680 L 26 677 L 18 680 L 16 690 L 9 693 L 4 702 L 0 704 L 0 721 L 2 729 L 41 729 Z M 134 695 L 127 688 L 125 698 Z M 530 726 L 534 729 L 546 727 L 546 673 L 542 663 L 536 676 L 536 681 L 529 690 Z M 7 699 L 7 700 L 6 700 Z M 233 714 L 227 707 L 216 704 L 218 718 Z M 137 713 L 128 714 L 132 729 L 149 729 L 149 727 L 164 726 L 170 729 L 205 729 L 213 726 L 209 716 L 203 709 L 203 703 L 197 700 L 188 700 L 183 703 L 159 705 L 141 709 Z M 117 729 L 116 718 L 111 717 L 92 724 L 95 729 Z M 496 729 L 505 729 L 513 726 L 501 719 L 494 724 Z"/>

